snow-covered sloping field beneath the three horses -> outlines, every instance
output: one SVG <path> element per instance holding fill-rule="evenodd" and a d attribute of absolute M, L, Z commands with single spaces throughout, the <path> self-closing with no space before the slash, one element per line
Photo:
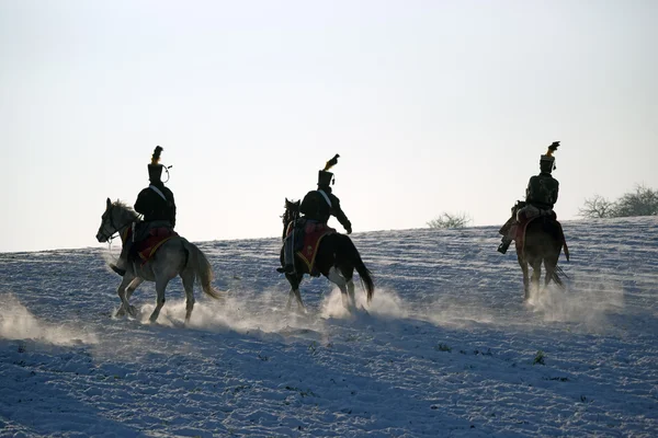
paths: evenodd
<path fill-rule="evenodd" d="M 353 234 L 354 314 L 308 277 L 286 312 L 277 239 L 198 243 L 229 292 L 186 327 L 179 280 L 112 318 L 106 247 L 0 254 L 0 436 L 656 436 L 658 220 L 564 228 L 567 290 L 532 303 L 495 227 Z"/>

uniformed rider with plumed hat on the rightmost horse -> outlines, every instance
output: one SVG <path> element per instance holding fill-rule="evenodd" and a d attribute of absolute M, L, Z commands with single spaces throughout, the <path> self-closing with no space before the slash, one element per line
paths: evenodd
<path fill-rule="evenodd" d="M 525 189 L 525 205 L 517 210 L 512 208 L 512 217 L 502 226 L 499 233 L 502 234 L 498 252 L 504 254 L 515 239 L 517 228 L 520 223 L 529 221 L 537 216 L 552 216 L 556 218 L 553 206 L 557 201 L 559 182 L 551 174 L 555 169 L 555 157 L 559 141 L 554 141 L 546 154 L 540 159 L 540 174 L 531 176 Z M 514 211 L 517 214 L 514 215 Z"/>

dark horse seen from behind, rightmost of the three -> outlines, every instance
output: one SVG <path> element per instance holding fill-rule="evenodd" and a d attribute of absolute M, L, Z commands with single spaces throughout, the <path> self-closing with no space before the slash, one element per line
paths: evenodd
<path fill-rule="evenodd" d="M 517 212 L 524 206 L 525 203 L 517 203 L 512 209 L 512 215 L 515 217 Z M 523 226 L 519 224 L 519 227 Z M 568 261 L 569 250 L 565 242 L 563 229 L 553 215 L 538 216 L 531 219 L 525 227 L 525 238 L 523 241 L 520 242 L 517 240 L 517 256 L 519 265 L 521 265 L 521 269 L 523 270 L 523 291 L 526 300 L 530 298 L 531 286 L 532 290 L 540 289 L 542 263 L 544 263 L 544 267 L 546 268 L 544 285 L 547 286 L 553 280 L 563 287 L 557 267 L 557 261 L 563 246 L 565 247 L 565 255 Z M 532 278 L 529 276 L 529 266 L 532 267 Z"/>

